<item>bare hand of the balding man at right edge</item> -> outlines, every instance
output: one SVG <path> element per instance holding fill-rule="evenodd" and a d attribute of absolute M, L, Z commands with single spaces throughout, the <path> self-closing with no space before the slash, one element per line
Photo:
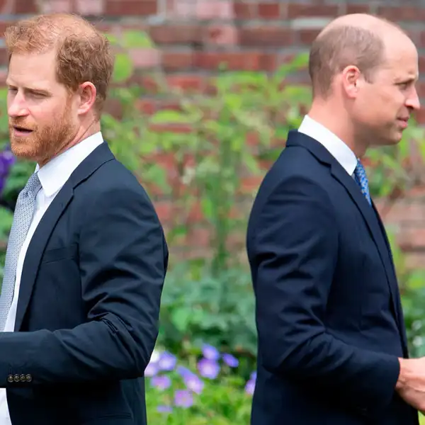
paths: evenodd
<path fill-rule="evenodd" d="M 400 373 L 395 390 L 415 409 L 425 411 L 425 357 L 399 358 Z"/>

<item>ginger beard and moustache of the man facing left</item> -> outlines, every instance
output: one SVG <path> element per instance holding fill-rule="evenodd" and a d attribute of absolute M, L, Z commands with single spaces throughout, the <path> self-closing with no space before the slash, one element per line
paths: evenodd
<path fill-rule="evenodd" d="M 70 103 L 50 123 L 36 125 L 28 123 L 28 118 L 9 118 L 11 151 L 21 159 L 45 164 L 55 157 L 74 137 L 77 131 L 72 123 Z M 13 127 L 31 130 L 26 135 L 16 135 Z"/>

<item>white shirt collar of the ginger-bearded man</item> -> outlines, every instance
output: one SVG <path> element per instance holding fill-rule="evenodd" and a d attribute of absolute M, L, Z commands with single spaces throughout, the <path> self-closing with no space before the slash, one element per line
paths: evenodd
<path fill-rule="evenodd" d="M 64 186 L 74 170 L 91 154 L 91 152 L 103 143 L 101 132 L 87 137 L 77 145 L 67 149 L 62 154 L 47 162 L 44 166 L 36 166 L 35 171 L 45 196 L 54 195 Z"/>

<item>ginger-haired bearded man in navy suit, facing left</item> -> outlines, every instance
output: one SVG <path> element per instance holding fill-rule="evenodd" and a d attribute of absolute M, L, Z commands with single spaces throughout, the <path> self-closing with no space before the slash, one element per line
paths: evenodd
<path fill-rule="evenodd" d="M 110 46 L 65 14 L 16 23 L 6 46 L 11 148 L 37 168 L 8 239 L 0 425 L 145 425 L 168 251 L 101 133 Z"/>

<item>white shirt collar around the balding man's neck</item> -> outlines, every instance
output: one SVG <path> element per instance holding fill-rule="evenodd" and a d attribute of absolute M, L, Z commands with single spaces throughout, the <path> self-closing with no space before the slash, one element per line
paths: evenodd
<path fill-rule="evenodd" d="M 308 115 L 305 115 L 298 131 L 321 143 L 347 173 L 353 175 L 357 166 L 356 154 L 338 136 Z"/>

